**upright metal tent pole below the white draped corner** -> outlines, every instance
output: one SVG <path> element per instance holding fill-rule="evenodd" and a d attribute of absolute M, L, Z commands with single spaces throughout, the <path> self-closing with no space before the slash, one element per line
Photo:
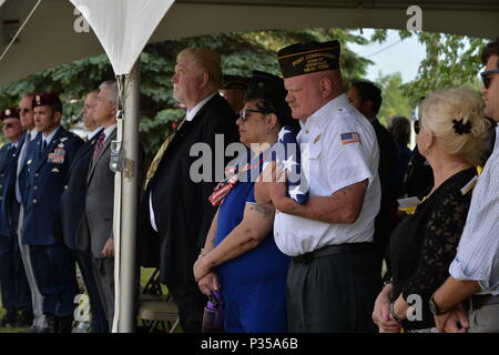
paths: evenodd
<path fill-rule="evenodd" d="M 120 257 L 120 322 L 119 333 L 135 329 L 135 231 L 139 199 L 139 106 L 140 106 L 140 57 L 126 75 L 124 125 L 123 125 L 123 171 L 121 202 L 121 257 Z"/>

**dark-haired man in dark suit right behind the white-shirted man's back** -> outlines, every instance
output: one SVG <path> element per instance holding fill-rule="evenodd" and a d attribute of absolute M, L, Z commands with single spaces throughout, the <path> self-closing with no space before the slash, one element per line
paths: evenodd
<path fill-rule="evenodd" d="M 397 160 L 397 148 L 387 129 L 379 123 L 377 114 L 381 106 L 381 90 L 369 81 L 354 81 L 348 90 L 348 100 L 361 114 L 373 124 L 379 146 L 379 182 L 381 184 L 381 203 L 379 213 L 375 220 L 374 243 L 377 248 L 379 271 L 385 256 L 386 247 L 394 230 L 394 209 L 397 199 L 397 189 L 391 184 L 391 175 L 395 174 L 395 163 Z"/>

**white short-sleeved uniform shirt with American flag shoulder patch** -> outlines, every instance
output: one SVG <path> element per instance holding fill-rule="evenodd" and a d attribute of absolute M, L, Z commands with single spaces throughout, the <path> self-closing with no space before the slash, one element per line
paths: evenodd
<path fill-rule="evenodd" d="M 355 142 L 354 134 L 350 143 L 348 133 L 357 133 L 360 142 Z M 380 202 L 379 149 L 373 125 L 342 94 L 302 124 L 297 140 L 310 199 L 330 196 L 366 179 L 368 187 L 353 224 L 318 222 L 277 211 L 274 239 L 279 250 L 296 256 L 333 244 L 371 242 Z"/>

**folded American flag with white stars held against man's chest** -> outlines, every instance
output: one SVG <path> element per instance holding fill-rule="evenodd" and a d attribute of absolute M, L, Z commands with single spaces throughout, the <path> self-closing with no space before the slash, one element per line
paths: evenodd
<path fill-rule="evenodd" d="M 282 128 L 277 142 L 273 145 L 272 161 L 287 172 L 287 193 L 291 199 L 299 204 L 308 201 L 308 181 L 302 171 L 299 144 L 289 125 Z"/>

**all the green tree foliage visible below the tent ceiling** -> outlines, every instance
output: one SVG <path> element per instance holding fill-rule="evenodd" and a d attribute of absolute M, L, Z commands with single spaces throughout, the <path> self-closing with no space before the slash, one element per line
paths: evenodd
<path fill-rule="evenodd" d="M 398 34 L 401 39 L 416 36 L 426 45 L 426 58 L 413 82 L 403 83 L 400 75 L 396 74 L 378 78 L 378 84 L 384 89 L 381 122 L 396 113 L 410 116 L 410 108 L 429 91 L 462 85 L 475 90 L 480 88 L 477 72 L 481 67 L 479 53 L 486 40 L 403 30 Z M 141 54 L 140 132 L 147 158 L 151 159 L 172 124 L 184 114 L 173 100 L 171 83 L 175 55 L 182 49 L 212 48 L 222 55 L 224 73 L 227 74 L 251 75 L 252 70 L 279 74 L 275 58 L 278 49 L 295 42 L 336 39 L 342 44 L 342 73 L 348 87 L 353 79 L 364 78 L 371 63 L 350 51 L 348 44 L 383 43 L 386 38 L 387 30 L 376 30 L 369 41 L 345 29 L 281 29 L 218 33 L 146 45 Z M 77 60 L 0 88 L 0 106 L 16 105 L 28 92 L 59 92 L 64 101 L 64 124 L 74 126 L 79 124 L 85 93 L 113 77 L 104 54 Z"/>

